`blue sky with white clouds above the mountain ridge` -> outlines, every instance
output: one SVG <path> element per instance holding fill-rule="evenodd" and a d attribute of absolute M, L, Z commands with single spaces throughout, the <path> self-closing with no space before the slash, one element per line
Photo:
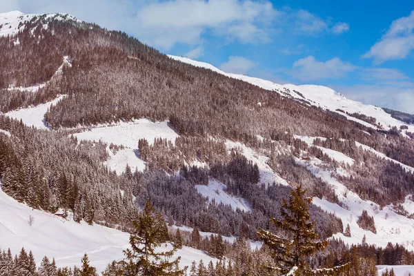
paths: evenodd
<path fill-rule="evenodd" d="M 0 0 L 10 10 L 68 12 L 227 72 L 414 113 L 414 1 Z"/>

